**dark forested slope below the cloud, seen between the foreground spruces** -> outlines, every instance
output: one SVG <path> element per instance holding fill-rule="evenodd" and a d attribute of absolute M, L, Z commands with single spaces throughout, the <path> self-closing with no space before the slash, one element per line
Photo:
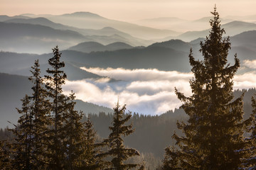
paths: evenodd
<path fill-rule="evenodd" d="M 256 90 L 235 90 L 234 98 L 238 98 L 242 93 L 245 93 L 243 111 L 245 113 L 244 118 L 247 119 L 252 113 L 251 99 L 256 94 Z M 152 153 L 156 160 L 164 157 L 164 147 L 175 142 L 171 138 L 174 131 L 178 135 L 182 134 L 181 130 L 177 128 L 177 120 L 188 120 L 188 115 L 182 108 L 161 115 L 141 115 L 139 113 L 133 113 L 132 115 L 129 122 L 133 123 L 136 131 L 132 135 L 124 137 L 126 145 L 137 148 L 142 153 Z M 112 123 L 112 116 L 110 113 L 90 115 L 99 137 L 107 137 L 110 133 L 107 127 Z"/>

